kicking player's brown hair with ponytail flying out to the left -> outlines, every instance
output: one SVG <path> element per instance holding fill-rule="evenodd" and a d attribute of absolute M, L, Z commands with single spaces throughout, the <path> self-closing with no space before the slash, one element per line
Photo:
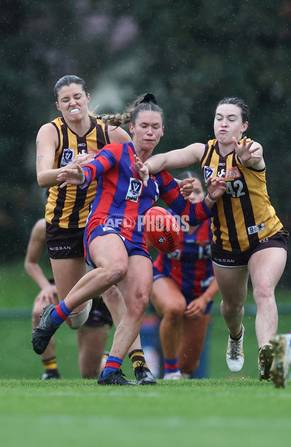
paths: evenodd
<path fill-rule="evenodd" d="M 157 105 L 157 101 L 151 93 L 138 96 L 132 104 L 126 107 L 122 114 L 102 115 L 101 119 L 104 123 L 111 124 L 112 126 L 125 126 L 130 122 L 135 124 L 138 114 L 144 111 L 158 112 L 163 121 L 162 108 Z"/>

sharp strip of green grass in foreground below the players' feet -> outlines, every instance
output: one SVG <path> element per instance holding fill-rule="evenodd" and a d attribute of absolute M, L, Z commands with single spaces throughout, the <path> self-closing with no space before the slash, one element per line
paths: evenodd
<path fill-rule="evenodd" d="M 290 405 L 290 386 L 250 379 L 160 380 L 152 387 L 2 380 L 1 444 L 280 446 L 290 438 Z"/>

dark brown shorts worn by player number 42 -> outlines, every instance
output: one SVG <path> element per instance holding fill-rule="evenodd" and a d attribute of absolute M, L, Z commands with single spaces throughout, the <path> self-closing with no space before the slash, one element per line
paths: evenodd
<path fill-rule="evenodd" d="M 224 250 L 217 244 L 211 245 L 211 261 L 220 267 L 244 267 L 247 266 L 250 257 L 257 251 L 264 248 L 279 247 L 284 248 L 288 253 L 289 233 L 282 229 L 273 236 L 267 237 L 258 242 L 254 247 L 244 251 L 228 251 Z"/>

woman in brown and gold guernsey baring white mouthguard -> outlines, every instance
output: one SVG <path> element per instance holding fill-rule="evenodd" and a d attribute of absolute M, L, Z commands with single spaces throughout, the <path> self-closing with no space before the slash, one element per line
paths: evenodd
<path fill-rule="evenodd" d="M 45 214 L 46 243 L 58 297 L 62 301 L 87 273 L 83 234 L 90 204 L 96 196 L 97 181 L 92 182 L 86 191 L 75 185 L 60 189 L 57 176 L 64 166 L 74 168 L 77 163 L 82 165 L 92 160 L 106 144 L 130 142 L 131 138 L 119 126 L 104 124 L 94 111 L 88 110 L 90 94 L 78 76 L 68 75 L 59 79 L 54 87 L 54 95 L 56 107 L 62 116 L 43 125 L 37 134 L 36 171 L 39 185 L 49 188 Z M 106 303 L 114 324 L 118 325 L 124 315 L 125 304 L 116 287 L 107 292 Z M 87 309 L 83 310 L 86 306 Z M 79 311 L 87 311 L 88 315 L 89 306 L 84 303 L 75 309 L 73 314 L 77 315 L 67 319 L 68 326 L 72 326 L 73 319 L 79 318 Z M 80 326 L 80 323 L 76 326 Z M 92 333 L 82 330 L 82 337 L 79 337 L 81 357 L 86 357 L 83 354 L 86 346 L 91 346 Z M 136 355 L 138 360 L 143 356 L 139 336 L 130 348 L 129 355 L 139 381 L 155 382 L 145 359 L 139 363 L 143 364 L 142 367 L 137 365 Z"/>

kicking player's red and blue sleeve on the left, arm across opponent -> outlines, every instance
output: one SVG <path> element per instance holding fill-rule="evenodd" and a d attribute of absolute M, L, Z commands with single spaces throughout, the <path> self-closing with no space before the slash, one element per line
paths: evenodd
<path fill-rule="evenodd" d="M 109 169 L 113 168 L 113 166 L 118 163 L 121 154 L 121 144 L 111 143 L 104 146 L 92 162 L 82 167 L 85 175 L 85 182 L 82 185 L 78 185 L 78 188 L 82 190 L 88 189 L 90 183 L 94 182 L 100 175 L 109 171 Z"/>

